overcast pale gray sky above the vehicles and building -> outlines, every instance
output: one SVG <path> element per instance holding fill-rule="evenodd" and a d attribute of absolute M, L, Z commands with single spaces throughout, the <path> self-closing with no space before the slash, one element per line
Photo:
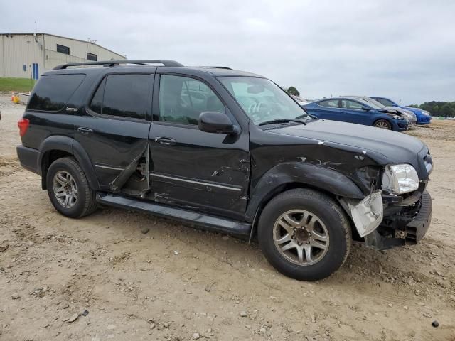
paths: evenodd
<path fill-rule="evenodd" d="M 303 97 L 455 101 L 455 1 L 0 0 L 0 32 L 38 31 L 128 58 L 226 65 Z"/>

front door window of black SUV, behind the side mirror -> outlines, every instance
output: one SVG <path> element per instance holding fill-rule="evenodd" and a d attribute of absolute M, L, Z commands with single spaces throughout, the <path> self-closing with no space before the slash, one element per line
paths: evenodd
<path fill-rule="evenodd" d="M 189 77 L 161 75 L 159 121 L 198 124 L 201 112 L 225 112 L 223 102 L 208 85 Z"/>

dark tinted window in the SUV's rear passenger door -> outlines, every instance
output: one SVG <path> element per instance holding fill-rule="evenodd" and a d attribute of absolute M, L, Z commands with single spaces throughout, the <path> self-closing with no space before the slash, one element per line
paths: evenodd
<path fill-rule="evenodd" d="M 150 75 L 109 75 L 93 95 L 90 109 L 97 114 L 145 119 L 150 95 Z"/>

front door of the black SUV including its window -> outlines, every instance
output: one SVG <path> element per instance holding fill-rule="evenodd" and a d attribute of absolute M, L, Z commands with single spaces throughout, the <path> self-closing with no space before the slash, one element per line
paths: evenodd
<path fill-rule="evenodd" d="M 248 132 L 228 135 L 198 129 L 201 112 L 225 112 L 237 124 L 203 80 L 156 75 L 155 82 L 159 95 L 154 96 L 149 136 L 155 200 L 242 219 L 250 177 Z"/>

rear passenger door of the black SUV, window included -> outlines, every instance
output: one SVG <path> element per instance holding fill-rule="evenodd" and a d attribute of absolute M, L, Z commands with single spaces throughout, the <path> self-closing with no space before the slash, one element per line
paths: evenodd
<path fill-rule="evenodd" d="M 146 151 L 153 82 L 150 72 L 105 75 L 76 126 L 76 141 L 87 151 L 104 190 L 112 190 L 110 183 Z"/>

